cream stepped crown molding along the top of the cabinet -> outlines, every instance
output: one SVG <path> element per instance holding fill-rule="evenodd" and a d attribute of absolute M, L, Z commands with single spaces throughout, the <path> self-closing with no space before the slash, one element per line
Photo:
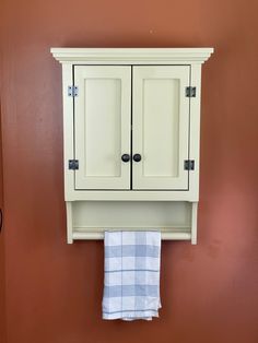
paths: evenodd
<path fill-rule="evenodd" d="M 203 63 L 213 48 L 51 48 L 60 63 Z"/>

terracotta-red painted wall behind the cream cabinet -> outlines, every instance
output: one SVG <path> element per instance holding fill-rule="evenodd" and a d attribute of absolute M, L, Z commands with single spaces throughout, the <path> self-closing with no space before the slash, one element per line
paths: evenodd
<path fill-rule="evenodd" d="M 1 5 L 8 343 L 257 343 L 257 0 Z M 103 321 L 103 244 L 66 244 L 55 46 L 215 47 L 202 78 L 199 244 L 163 244 L 153 322 Z"/>

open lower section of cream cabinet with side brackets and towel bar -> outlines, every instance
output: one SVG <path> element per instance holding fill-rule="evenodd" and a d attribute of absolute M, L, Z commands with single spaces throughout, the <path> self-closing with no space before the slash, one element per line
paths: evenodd
<path fill-rule="evenodd" d="M 105 230 L 161 230 L 162 239 L 197 244 L 198 202 L 67 201 L 66 204 L 69 244 L 103 239 Z"/>

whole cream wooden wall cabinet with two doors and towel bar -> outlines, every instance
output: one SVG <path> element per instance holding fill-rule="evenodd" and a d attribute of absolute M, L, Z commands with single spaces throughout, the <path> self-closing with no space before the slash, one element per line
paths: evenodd
<path fill-rule="evenodd" d="M 197 243 L 201 64 L 212 48 L 52 48 L 68 243 L 161 229 Z"/>

